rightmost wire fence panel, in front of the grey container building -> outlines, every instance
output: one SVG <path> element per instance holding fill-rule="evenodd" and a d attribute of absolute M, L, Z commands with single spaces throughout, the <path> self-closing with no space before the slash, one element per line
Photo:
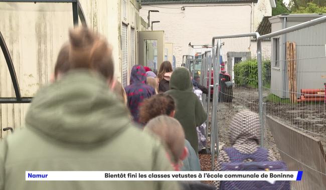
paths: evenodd
<path fill-rule="evenodd" d="M 259 36 L 257 42 L 262 73 L 258 75 L 262 81 L 259 103 L 264 104 L 268 121 L 262 139 L 289 170 L 303 170 L 303 180 L 292 181 L 293 189 L 322 189 L 326 181 L 326 16 L 297 25 L 285 16 L 280 22 L 284 28 L 293 26 Z"/>

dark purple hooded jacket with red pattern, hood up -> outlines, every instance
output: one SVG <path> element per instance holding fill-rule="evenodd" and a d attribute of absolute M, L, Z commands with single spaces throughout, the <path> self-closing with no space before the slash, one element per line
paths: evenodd
<path fill-rule="evenodd" d="M 133 120 L 137 123 L 138 107 L 143 99 L 148 98 L 155 94 L 155 90 L 150 85 L 146 84 L 146 72 L 143 66 L 135 65 L 131 69 L 130 85 L 125 87 L 128 102 L 127 105 L 130 109 Z"/>

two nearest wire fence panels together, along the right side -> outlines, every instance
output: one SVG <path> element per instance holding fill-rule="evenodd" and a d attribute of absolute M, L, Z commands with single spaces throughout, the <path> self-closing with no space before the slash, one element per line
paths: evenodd
<path fill-rule="evenodd" d="M 259 113 L 261 145 L 289 170 L 303 170 L 291 188 L 324 189 L 326 16 L 293 23 L 262 36 L 213 37 L 212 169 L 219 149 L 231 145 L 233 115 L 249 109 Z"/>

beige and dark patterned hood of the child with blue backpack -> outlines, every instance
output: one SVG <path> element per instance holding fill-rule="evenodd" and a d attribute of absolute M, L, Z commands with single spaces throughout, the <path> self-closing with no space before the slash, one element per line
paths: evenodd
<path fill-rule="evenodd" d="M 235 114 L 229 128 L 231 145 L 260 143 L 259 115 L 252 111 L 240 111 Z"/>

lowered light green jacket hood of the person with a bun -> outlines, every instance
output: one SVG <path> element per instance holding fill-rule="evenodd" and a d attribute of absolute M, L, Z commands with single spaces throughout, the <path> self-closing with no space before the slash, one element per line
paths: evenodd
<path fill-rule="evenodd" d="M 25 121 L 38 133 L 81 144 L 108 140 L 130 125 L 127 108 L 104 78 L 84 69 L 42 87 Z"/>

